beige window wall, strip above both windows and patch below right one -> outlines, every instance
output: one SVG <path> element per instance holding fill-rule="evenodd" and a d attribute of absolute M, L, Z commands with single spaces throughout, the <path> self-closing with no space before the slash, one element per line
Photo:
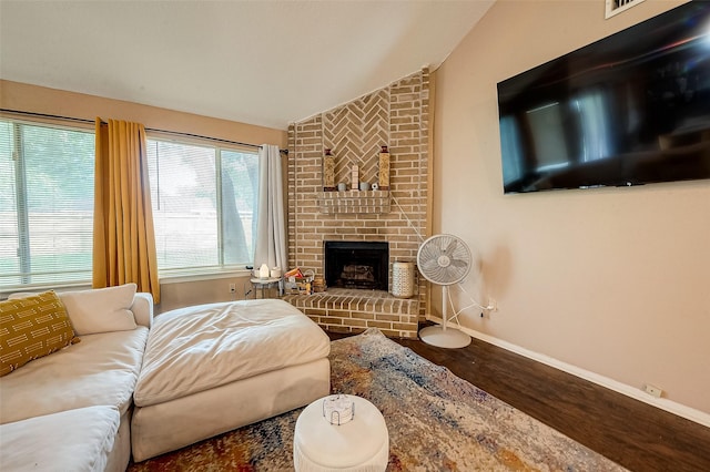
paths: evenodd
<path fill-rule="evenodd" d="M 282 148 L 285 148 L 287 143 L 286 130 L 254 126 L 9 81 L 0 81 L 0 107 L 87 120 L 94 120 L 97 116 L 129 120 L 143 123 L 145 127 L 155 130 L 191 133 L 242 143 L 275 144 Z M 87 126 L 92 127 L 91 124 Z M 235 284 L 235 294 L 230 293 L 230 284 Z M 166 311 L 189 305 L 242 299 L 248 288 L 251 288 L 251 284 L 247 276 L 161 283 L 161 305 L 156 307 L 156 311 Z"/>

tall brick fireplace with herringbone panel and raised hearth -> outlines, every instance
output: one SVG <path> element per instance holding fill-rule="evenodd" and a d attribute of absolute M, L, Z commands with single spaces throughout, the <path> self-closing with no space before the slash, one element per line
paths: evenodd
<path fill-rule="evenodd" d="M 323 191 L 326 148 L 335 156 L 336 183 L 351 188 L 354 165 L 362 182 L 377 182 L 382 145 L 387 145 L 390 153 L 388 191 Z M 416 261 L 420 243 L 417 233 L 426 237 L 429 228 L 428 70 L 292 124 L 288 150 L 288 266 L 328 278 L 326 243 L 346 247 L 355 243 L 384 244 L 387 255 L 382 263 L 386 278 L 382 286 L 351 281 L 335 287 L 328 278 L 325 293 L 285 299 L 328 330 L 351 332 L 377 327 L 387 336 L 416 337 L 417 322 L 426 309 L 425 281 L 418 279 L 416 294 L 409 299 L 395 298 L 388 287 L 392 263 Z M 341 274 L 368 278 L 374 264 L 368 257 L 349 261 L 346 270 L 339 268 Z"/>

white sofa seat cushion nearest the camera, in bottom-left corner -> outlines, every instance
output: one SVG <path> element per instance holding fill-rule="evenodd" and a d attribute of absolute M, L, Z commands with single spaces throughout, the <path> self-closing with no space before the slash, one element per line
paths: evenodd
<path fill-rule="evenodd" d="M 103 471 L 119 430 L 119 410 L 90 407 L 0 425 L 7 471 Z"/>

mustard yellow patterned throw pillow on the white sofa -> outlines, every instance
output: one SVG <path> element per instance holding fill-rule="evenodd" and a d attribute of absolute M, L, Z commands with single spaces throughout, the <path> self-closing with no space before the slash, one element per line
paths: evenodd
<path fill-rule="evenodd" d="M 79 342 L 57 294 L 0 301 L 0 377 Z"/>

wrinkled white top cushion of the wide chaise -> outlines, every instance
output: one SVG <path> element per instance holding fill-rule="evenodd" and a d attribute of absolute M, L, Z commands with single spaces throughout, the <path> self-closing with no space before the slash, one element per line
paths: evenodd
<path fill-rule="evenodd" d="M 283 300 L 181 308 L 155 318 L 133 399 L 161 403 L 327 357 L 327 335 Z"/>

